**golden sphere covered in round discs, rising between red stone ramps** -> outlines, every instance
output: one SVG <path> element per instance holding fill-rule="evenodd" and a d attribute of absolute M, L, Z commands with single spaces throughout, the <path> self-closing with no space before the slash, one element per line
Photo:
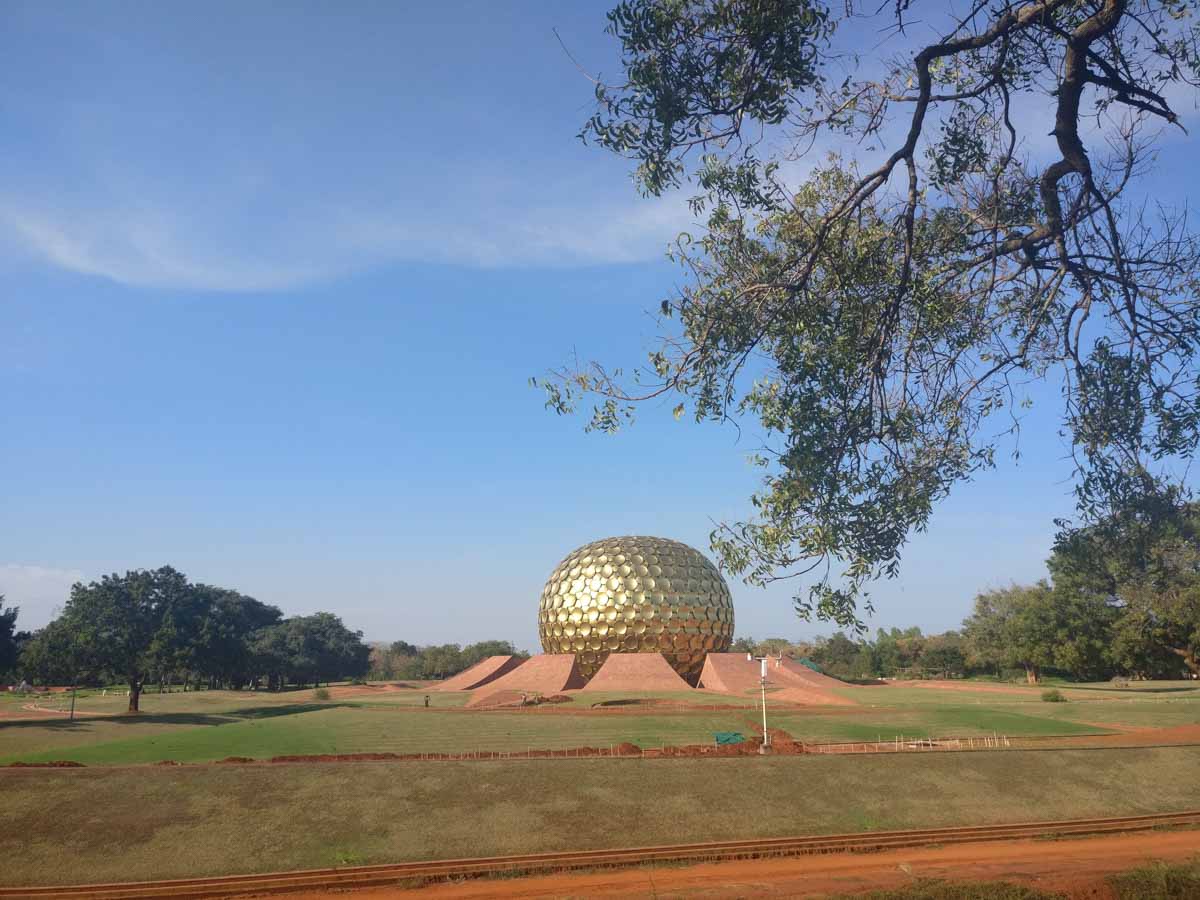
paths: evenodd
<path fill-rule="evenodd" d="M 541 592 L 546 653 L 574 653 L 590 678 L 610 653 L 653 653 L 695 682 L 704 655 L 733 642 L 733 598 L 721 572 L 686 544 L 605 538 L 566 557 Z"/>

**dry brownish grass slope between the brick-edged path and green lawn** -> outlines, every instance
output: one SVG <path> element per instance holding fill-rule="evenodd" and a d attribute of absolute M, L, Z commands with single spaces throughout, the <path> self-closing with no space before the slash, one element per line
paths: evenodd
<path fill-rule="evenodd" d="M 0 859 L 32 884 L 1152 812 L 1200 806 L 1198 770 L 1196 748 L 7 769 Z"/>

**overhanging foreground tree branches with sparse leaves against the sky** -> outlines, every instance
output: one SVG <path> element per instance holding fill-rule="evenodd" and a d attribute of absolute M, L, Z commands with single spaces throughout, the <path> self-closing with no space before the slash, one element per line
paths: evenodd
<path fill-rule="evenodd" d="M 623 0 L 623 80 L 596 79 L 582 137 L 646 193 L 686 179 L 707 220 L 677 242 L 688 278 L 648 365 L 557 371 L 547 406 L 592 395 L 604 431 L 667 396 L 677 418 L 757 419 L 756 518 L 713 548 L 756 584 L 812 572 L 797 611 L 844 626 L 994 464 L 1030 380 L 1061 380 L 1085 523 L 1159 491 L 1200 443 L 1200 247 L 1138 186 L 1169 98 L 1194 97 L 1198 6 L 998 0 L 910 29 L 898 0 L 845 29 L 863 17 L 820 0 Z M 881 31 L 894 56 L 842 79 Z"/>

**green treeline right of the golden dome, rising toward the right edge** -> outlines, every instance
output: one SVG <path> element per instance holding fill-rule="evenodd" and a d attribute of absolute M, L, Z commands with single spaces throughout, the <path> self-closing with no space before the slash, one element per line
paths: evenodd
<path fill-rule="evenodd" d="M 1046 568 L 1049 580 L 977 595 L 958 631 L 881 629 L 874 641 L 742 638 L 736 649 L 808 658 L 842 678 L 1200 676 L 1200 505 L 1144 498 L 1099 524 L 1062 533 Z"/>

